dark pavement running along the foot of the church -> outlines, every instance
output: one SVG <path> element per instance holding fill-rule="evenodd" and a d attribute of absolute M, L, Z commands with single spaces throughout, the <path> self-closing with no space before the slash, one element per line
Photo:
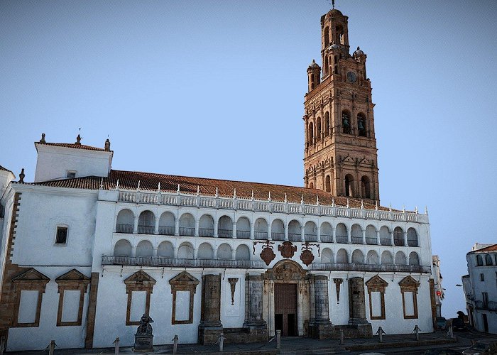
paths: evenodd
<path fill-rule="evenodd" d="M 383 343 L 378 342 L 378 337 L 361 338 L 361 339 L 345 339 L 344 344 L 340 344 L 339 340 L 327 339 L 318 340 L 302 337 L 283 337 L 281 339 L 281 349 L 276 349 L 275 339 L 271 342 L 260 344 L 226 344 L 224 352 L 219 352 L 219 346 L 207 346 L 200 344 L 179 344 L 177 354 L 233 354 L 233 355 L 249 355 L 249 354 L 285 354 L 285 355 L 307 355 L 307 354 L 360 354 L 366 351 L 378 351 L 385 349 L 386 352 L 412 353 L 414 349 L 427 349 L 430 347 L 451 347 L 464 348 L 471 346 L 471 340 L 484 339 L 486 337 L 497 340 L 497 335 L 484 334 L 474 331 L 454 333 L 457 339 L 449 339 L 445 332 L 439 331 L 435 333 L 420 334 L 420 340 L 415 339 L 415 334 L 395 334 L 384 335 Z M 146 354 L 173 354 L 172 345 L 154 346 L 153 353 Z M 407 348 L 407 349 L 405 349 Z M 404 350 L 402 350 L 404 349 Z M 410 351 L 413 349 L 413 351 Z M 121 354 L 136 354 L 133 353 L 131 347 L 119 349 Z M 6 353 L 14 354 L 14 353 Z M 45 351 L 22 351 L 16 354 L 48 354 Z M 106 349 L 57 349 L 55 354 L 75 355 L 75 354 L 114 354 L 114 348 Z M 417 352 L 420 354 L 420 351 Z"/>

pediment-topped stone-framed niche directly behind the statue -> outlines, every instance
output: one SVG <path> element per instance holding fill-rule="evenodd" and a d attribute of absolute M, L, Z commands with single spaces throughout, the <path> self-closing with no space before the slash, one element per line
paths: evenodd
<path fill-rule="evenodd" d="M 140 325 L 143 313 L 150 311 L 150 295 L 155 279 L 143 271 L 137 271 L 124 280 L 128 305 L 126 307 L 126 325 Z"/>

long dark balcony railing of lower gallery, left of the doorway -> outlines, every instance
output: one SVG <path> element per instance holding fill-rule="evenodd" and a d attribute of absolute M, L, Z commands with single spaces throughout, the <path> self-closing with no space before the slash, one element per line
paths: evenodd
<path fill-rule="evenodd" d="M 263 261 L 164 258 L 161 256 L 102 256 L 102 265 L 175 268 L 266 268 Z"/>

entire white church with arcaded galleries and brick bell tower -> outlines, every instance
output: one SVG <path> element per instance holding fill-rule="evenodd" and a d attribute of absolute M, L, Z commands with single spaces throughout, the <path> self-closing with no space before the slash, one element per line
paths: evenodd
<path fill-rule="evenodd" d="M 366 55 L 322 16 L 307 70 L 305 187 L 111 169 L 114 152 L 35 142 L 0 169 L 0 335 L 10 351 L 431 332 L 427 214 L 379 204 Z"/>

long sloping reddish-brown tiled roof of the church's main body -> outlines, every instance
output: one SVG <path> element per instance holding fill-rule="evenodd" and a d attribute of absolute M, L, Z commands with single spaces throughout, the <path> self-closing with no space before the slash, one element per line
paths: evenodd
<path fill-rule="evenodd" d="M 89 176 L 85 178 L 72 178 L 65 180 L 53 180 L 45 182 L 35 182 L 33 185 L 70 187 L 80 189 L 98 190 L 101 182 L 104 190 L 116 188 L 119 180 L 119 188 L 124 190 L 136 190 L 140 182 L 140 190 L 157 191 L 160 182 L 161 191 L 175 192 L 180 185 L 180 192 L 196 194 L 197 188 L 200 195 L 215 195 L 216 188 L 219 196 L 232 197 L 236 189 L 237 197 L 251 198 L 256 200 L 268 200 L 271 192 L 271 200 L 283 202 L 285 194 L 288 202 L 300 203 L 302 196 L 306 204 L 315 204 L 319 196 L 320 204 L 332 204 L 332 198 L 337 205 L 346 206 L 346 197 L 332 197 L 327 192 L 306 187 L 295 187 L 285 185 L 263 184 L 260 182 L 243 182 L 232 180 L 218 180 L 209 178 L 191 178 L 178 175 L 164 175 L 154 173 L 141 173 L 137 171 L 111 170 L 108 178 Z M 360 208 L 361 200 L 349 199 L 349 206 Z M 375 209 L 374 204 L 364 203 L 365 209 Z M 378 207 L 381 210 L 388 210 L 387 207 Z"/>

